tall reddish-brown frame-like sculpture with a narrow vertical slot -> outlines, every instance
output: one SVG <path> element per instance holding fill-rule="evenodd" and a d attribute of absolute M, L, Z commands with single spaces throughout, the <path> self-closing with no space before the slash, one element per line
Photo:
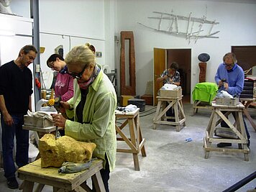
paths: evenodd
<path fill-rule="evenodd" d="M 126 68 L 125 55 L 125 40 L 129 40 L 129 65 Z M 129 72 L 129 85 L 126 84 L 126 71 Z M 121 95 L 135 96 L 136 95 L 136 78 L 135 78 L 135 51 L 134 51 L 134 36 L 133 32 L 121 32 L 121 54 L 120 54 L 120 93 Z"/>

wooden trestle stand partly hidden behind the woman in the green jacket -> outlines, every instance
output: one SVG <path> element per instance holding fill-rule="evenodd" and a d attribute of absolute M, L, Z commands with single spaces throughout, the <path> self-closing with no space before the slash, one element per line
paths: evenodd
<path fill-rule="evenodd" d="M 130 149 L 118 149 L 117 152 L 129 152 L 133 155 L 134 160 L 134 170 L 140 170 L 138 153 L 142 152 L 142 157 L 146 157 L 145 150 L 145 139 L 142 138 L 142 131 L 140 129 L 140 109 L 131 111 L 125 114 L 117 114 L 116 119 L 126 119 L 125 122 L 118 127 L 116 125 L 116 134 L 119 134 L 121 137 L 116 137 L 117 141 L 124 141 L 130 147 Z M 129 135 L 130 138 L 122 132 L 122 129 L 129 124 Z"/>

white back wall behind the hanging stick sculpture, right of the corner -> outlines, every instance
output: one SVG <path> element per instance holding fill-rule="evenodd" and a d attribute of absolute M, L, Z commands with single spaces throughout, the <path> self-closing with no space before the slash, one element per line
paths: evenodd
<path fill-rule="evenodd" d="M 153 80 L 153 47 L 191 48 L 191 91 L 198 83 L 198 55 L 207 52 L 211 56 L 207 62 L 206 81 L 214 82 L 216 68 L 232 45 L 256 45 L 256 4 L 234 4 L 214 1 L 146 1 L 119 0 L 117 2 L 116 34 L 121 31 L 134 32 L 136 60 L 137 94 L 145 93 L 147 81 Z M 206 9 L 207 6 L 207 9 Z M 191 17 L 203 17 L 219 22 L 213 31 L 220 31 L 219 39 L 201 39 L 194 43 L 183 37 L 175 37 L 140 26 L 137 22 L 157 27 L 157 23 L 147 17 L 155 16 L 152 12 L 168 12 Z M 207 12 L 207 14 L 206 14 Z M 185 27 L 183 25 L 183 27 Z M 180 26 L 182 28 L 182 26 Z M 194 28 L 196 30 L 196 28 Z M 116 49 L 119 51 L 119 49 Z M 119 55 L 117 53 L 116 55 Z M 117 57 L 117 56 L 116 56 Z M 119 61 L 119 60 L 116 60 Z M 117 65 L 119 66 L 119 64 Z"/>

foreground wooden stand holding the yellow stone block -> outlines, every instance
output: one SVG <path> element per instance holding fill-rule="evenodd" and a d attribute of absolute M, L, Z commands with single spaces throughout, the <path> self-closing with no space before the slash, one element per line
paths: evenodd
<path fill-rule="evenodd" d="M 86 185 L 88 178 L 93 179 L 96 191 L 105 191 L 100 170 L 103 168 L 102 160 L 94 160 L 91 167 L 78 173 L 58 173 L 59 168 L 41 168 L 41 159 L 24 165 L 18 169 L 19 178 L 24 180 L 22 189 L 24 192 L 32 192 L 34 183 L 39 183 L 37 192 L 42 191 L 45 185 L 52 186 L 57 191 L 90 191 Z"/>

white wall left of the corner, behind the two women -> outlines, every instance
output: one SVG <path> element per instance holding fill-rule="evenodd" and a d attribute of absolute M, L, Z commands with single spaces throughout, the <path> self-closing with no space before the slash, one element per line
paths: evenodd
<path fill-rule="evenodd" d="M 13 0 L 11 6 L 15 14 L 30 17 L 29 0 Z M 96 58 L 97 63 L 106 63 L 114 69 L 114 63 L 111 61 L 114 60 L 114 56 L 106 57 L 105 52 L 106 42 L 108 52 L 114 50 L 114 43 L 109 45 L 110 41 L 105 40 L 105 17 L 108 14 L 105 14 L 104 9 L 104 0 L 39 0 L 40 47 L 45 47 L 45 52 L 40 54 L 43 72 L 51 71 L 47 68 L 46 60 L 54 53 L 55 47 L 63 45 L 65 58 L 72 47 L 86 42 L 94 45 L 96 51 L 102 52 L 102 57 Z M 108 19 L 107 22 L 111 20 Z"/>

